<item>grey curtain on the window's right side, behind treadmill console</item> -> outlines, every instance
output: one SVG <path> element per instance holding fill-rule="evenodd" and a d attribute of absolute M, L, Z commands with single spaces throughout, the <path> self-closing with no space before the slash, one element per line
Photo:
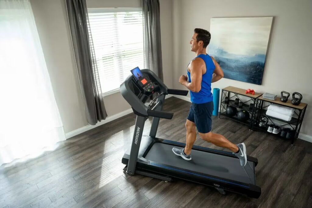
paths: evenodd
<path fill-rule="evenodd" d="M 144 20 L 144 65 L 163 80 L 159 0 L 142 0 Z"/>

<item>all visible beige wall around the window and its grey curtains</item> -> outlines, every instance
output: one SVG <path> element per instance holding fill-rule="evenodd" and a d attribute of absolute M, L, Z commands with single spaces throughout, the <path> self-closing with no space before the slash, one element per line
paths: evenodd
<path fill-rule="evenodd" d="M 65 133 L 88 125 L 71 45 L 65 0 L 31 0 L 35 21 Z M 87 0 L 89 8 L 141 7 L 141 0 Z M 164 83 L 172 88 L 172 1 L 160 1 Z M 130 105 L 120 93 L 104 97 L 108 116 Z"/>

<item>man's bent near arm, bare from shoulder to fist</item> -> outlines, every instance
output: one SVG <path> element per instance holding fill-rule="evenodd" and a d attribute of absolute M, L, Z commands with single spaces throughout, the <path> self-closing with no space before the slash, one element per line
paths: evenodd
<path fill-rule="evenodd" d="M 190 64 L 191 80 L 188 82 L 187 78 L 180 81 L 180 83 L 186 86 L 193 92 L 199 92 L 202 88 L 202 66 L 204 61 L 202 59 L 194 59 Z M 180 78 L 181 80 L 181 78 Z"/>

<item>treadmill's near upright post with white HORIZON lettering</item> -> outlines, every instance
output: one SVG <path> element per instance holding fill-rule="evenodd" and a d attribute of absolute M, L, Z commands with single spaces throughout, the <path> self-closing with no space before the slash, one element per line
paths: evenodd
<path fill-rule="evenodd" d="M 137 116 L 135 121 L 135 128 L 133 133 L 133 139 L 131 144 L 129 162 L 127 167 L 127 173 L 131 176 L 134 175 L 136 162 L 138 160 L 139 149 L 143 134 L 144 123 L 147 117 Z"/>

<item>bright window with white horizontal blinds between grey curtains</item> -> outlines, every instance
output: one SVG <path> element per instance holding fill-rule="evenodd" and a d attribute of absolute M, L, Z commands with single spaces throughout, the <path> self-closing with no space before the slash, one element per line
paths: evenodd
<path fill-rule="evenodd" d="M 142 9 L 100 8 L 88 12 L 102 93 L 109 94 L 119 89 L 131 69 L 144 69 Z"/>

